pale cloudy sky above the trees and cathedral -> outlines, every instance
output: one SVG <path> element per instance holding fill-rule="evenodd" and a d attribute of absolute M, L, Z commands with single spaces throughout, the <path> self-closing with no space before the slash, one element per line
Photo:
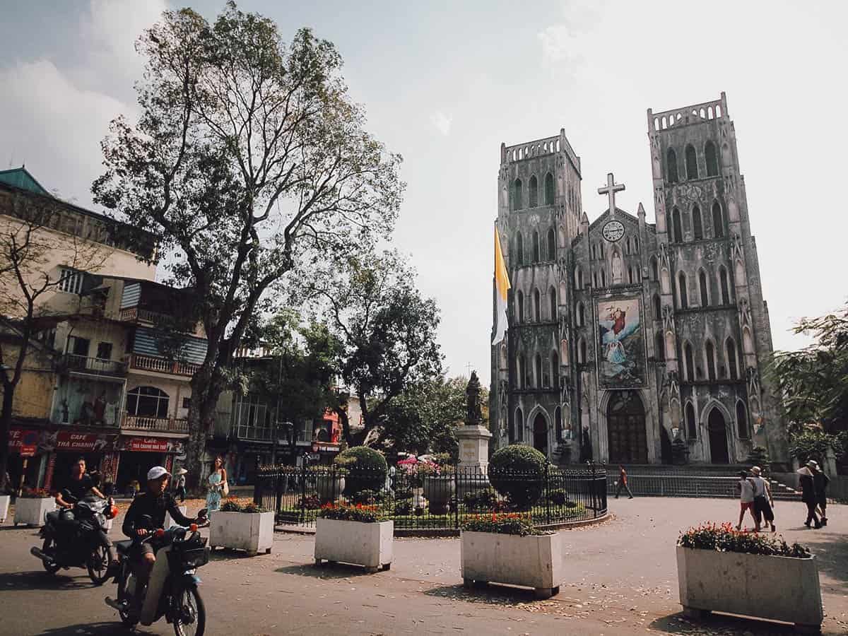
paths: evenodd
<path fill-rule="evenodd" d="M 133 42 L 165 0 L 0 0 L 0 169 L 26 165 L 48 190 L 97 209 L 99 143 L 137 114 Z M 213 19 L 222 0 L 189 6 Z M 499 148 L 561 128 L 583 167 L 583 206 L 607 172 L 653 222 L 647 109 L 727 93 L 775 349 L 809 340 L 804 315 L 834 310 L 848 230 L 835 181 L 848 172 L 848 3 L 239 3 L 334 42 L 368 129 L 404 158 L 393 243 L 436 298 L 451 375 L 489 377 Z M 469 366 L 470 365 L 470 366 Z"/>

